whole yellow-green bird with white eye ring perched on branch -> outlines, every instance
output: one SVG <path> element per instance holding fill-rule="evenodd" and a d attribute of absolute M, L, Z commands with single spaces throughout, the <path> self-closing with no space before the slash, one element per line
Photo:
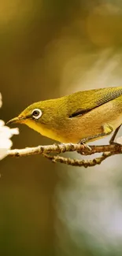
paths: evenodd
<path fill-rule="evenodd" d="M 116 132 L 122 124 L 122 87 L 78 91 L 35 102 L 8 122 L 27 124 L 61 143 L 85 143 Z"/>

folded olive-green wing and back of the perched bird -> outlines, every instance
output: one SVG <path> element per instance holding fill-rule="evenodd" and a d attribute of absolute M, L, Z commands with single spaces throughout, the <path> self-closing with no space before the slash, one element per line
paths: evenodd
<path fill-rule="evenodd" d="M 91 109 L 118 98 L 120 95 L 122 95 L 122 87 L 76 92 L 68 96 L 68 117 L 76 117 L 87 113 Z"/>

